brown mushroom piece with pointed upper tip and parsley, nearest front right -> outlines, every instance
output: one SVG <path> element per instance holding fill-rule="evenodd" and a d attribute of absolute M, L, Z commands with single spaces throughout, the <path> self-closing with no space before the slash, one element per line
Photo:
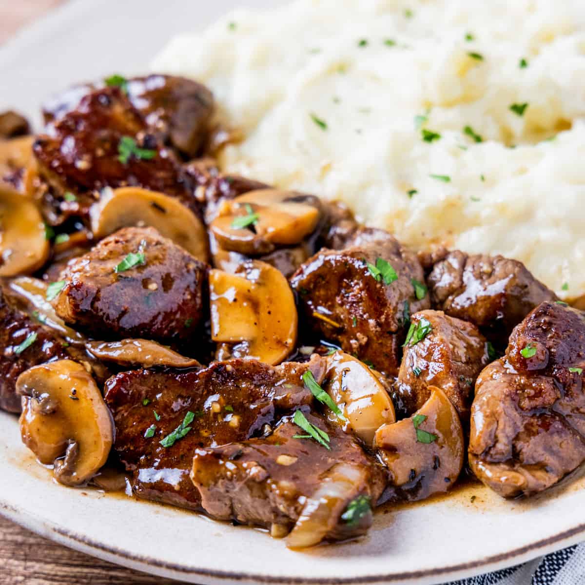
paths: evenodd
<path fill-rule="evenodd" d="M 463 467 L 463 428 L 445 393 L 431 397 L 411 417 L 376 431 L 374 447 L 390 470 L 397 494 L 411 500 L 447 491 Z"/>

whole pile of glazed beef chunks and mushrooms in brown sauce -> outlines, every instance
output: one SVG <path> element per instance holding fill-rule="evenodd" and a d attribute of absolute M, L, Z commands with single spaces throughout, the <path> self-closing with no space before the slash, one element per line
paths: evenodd
<path fill-rule="evenodd" d="M 120 469 L 303 548 L 585 460 L 585 314 L 523 264 L 223 174 L 195 81 L 112 75 L 43 114 L 0 116 L 0 407 L 60 483 Z"/>

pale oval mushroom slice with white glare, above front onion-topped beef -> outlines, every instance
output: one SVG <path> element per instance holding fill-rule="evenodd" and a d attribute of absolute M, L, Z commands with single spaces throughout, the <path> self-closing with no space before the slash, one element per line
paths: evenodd
<path fill-rule="evenodd" d="M 371 446 L 377 429 L 396 421 L 384 378 L 347 353 L 335 352 L 327 361 L 322 386 L 347 419 L 344 430 L 350 429 Z M 331 411 L 329 417 L 339 420 Z"/>

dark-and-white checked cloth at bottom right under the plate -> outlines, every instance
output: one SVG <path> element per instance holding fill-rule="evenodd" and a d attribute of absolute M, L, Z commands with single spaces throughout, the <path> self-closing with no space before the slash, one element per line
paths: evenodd
<path fill-rule="evenodd" d="M 542 556 L 525 565 L 445 585 L 585 585 L 585 543 Z"/>

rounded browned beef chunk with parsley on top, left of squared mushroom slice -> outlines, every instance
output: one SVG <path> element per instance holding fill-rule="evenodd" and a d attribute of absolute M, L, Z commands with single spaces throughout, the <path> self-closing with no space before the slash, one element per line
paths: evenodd
<path fill-rule="evenodd" d="M 153 228 L 124 228 L 68 264 L 57 314 L 104 338 L 185 342 L 204 318 L 207 267 Z"/>

